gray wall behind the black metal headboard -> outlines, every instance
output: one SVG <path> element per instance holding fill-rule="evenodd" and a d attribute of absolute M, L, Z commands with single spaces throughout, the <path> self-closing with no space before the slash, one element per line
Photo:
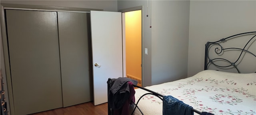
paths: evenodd
<path fill-rule="evenodd" d="M 256 1 L 190 1 L 188 76 L 204 70 L 204 44 L 243 32 L 256 31 Z M 242 42 L 237 41 L 237 43 Z M 255 42 L 254 42 L 255 43 Z M 255 44 L 251 50 L 256 53 Z M 248 60 L 246 60 L 248 61 Z M 241 69 L 256 69 L 255 57 Z M 243 70 L 243 71 L 244 71 Z"/>

